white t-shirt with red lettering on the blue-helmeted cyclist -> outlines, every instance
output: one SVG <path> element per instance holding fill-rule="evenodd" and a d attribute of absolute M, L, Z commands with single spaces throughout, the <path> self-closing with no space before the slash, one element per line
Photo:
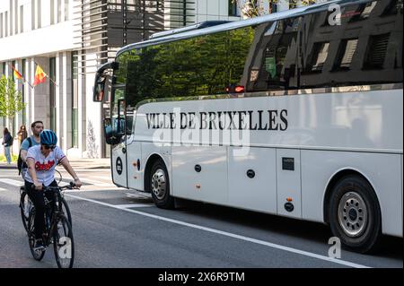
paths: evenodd
<path fill-rule="evenodd" d="M 40 145 L 32 146 L 27 153 L 27 160 L 29 158 L 35 160 L 38 181 L 45 186 L 49 186 L 53 182 L 57 163 L 65 157 L 65 153 L 59 147 L 49 152 L 47 158 L 40 152 Z M 27 172 L 25 179 L 33 183 L 30 172 Z"/>

